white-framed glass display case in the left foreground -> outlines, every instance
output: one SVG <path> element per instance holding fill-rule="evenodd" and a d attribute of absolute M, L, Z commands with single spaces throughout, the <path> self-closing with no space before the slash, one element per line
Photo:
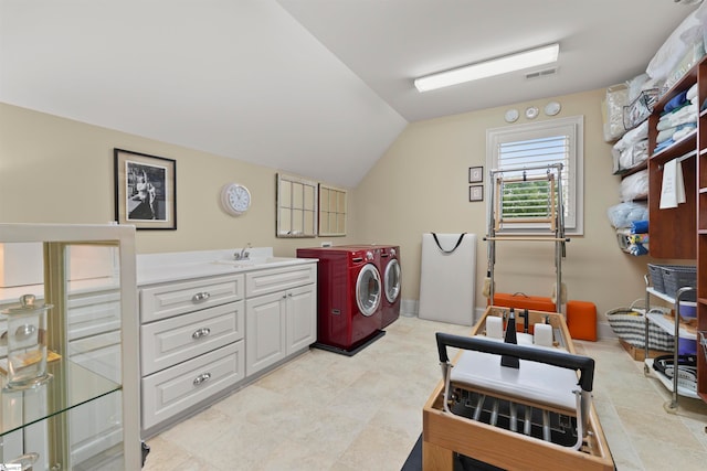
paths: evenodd
<path fill-rule="evenodd" d="M 48 363 L 51 381 L 27 389 L 0 389 L 0 462 L 33 461 L 34 471 L 140 469 L 135 228 L 0 224 L 0 249 L 9 251 L 23 244 L 41 246 L 42 255 L 39 260 L 28 258 L 11 269 L 38 269 L 43 280 L 0 287 L 0 304 L 17 304 L 17 296 L 24 293 L 52 304 L 48 313 L 48 346 L 61 358 Z M 77 268 L 71 257 L 76 247 L 101 247 L 113 268 L 97 282 L 101 287 L 110 286 L 110 296 L 96 296 L 92 307 L 82 308 L 91 312 L 81 311 L 77 317 L 101 320 L 102 314 L 118 306 L 112 324 L 119 339 L 115 355 L 105 355 L 101 349 L 72 349 L 77 285 L 87 292 L 98 289 L 89 288 L 95 280 L 71 279 L 72 270 Z M 96 260 L 85 261 L 91 265 Z M 108 351 L 113 352 L 112 347 Z M 0 351 L 0 356 L 4 354 L 4 350 Z M 113 374 L 106 375 L 106 371 Z M 0 379 L 4 386 L 4 375 Z M 106 410 L 106 406 L 115 409 Z"/>

